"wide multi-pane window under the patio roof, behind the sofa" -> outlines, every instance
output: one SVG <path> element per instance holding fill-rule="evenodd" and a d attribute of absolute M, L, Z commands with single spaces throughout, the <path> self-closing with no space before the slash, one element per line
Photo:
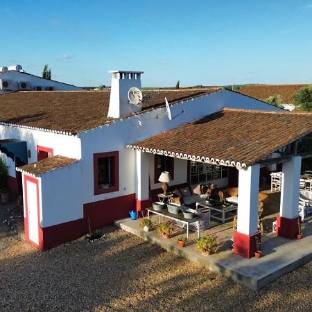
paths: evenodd
<path fill-rule="evenodd" d="M 191 162 L 191 184 L 208 182 L 210 180 L 227 177 L 227 175 L 227 166 Z"/>

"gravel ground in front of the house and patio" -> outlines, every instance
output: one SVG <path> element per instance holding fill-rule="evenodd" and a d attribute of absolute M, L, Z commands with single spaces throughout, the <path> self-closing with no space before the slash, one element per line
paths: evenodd
<path fill-rule="evenodd" d="M 0 311 L 312 310 L 312 263 L 254 293 L 121 229 L 103 231 L 40 252 L 0 225 Z"/>

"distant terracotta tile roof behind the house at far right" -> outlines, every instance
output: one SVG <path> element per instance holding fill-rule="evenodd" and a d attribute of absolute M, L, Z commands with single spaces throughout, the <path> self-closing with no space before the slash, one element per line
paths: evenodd
<path fill-rule="evenodd" d="M 239 92 L 261 101 L 266 101 L 269 96 L 279 94 L 283 103 L 290 104 L 293 103 L 293 94 L 307 86 L 309 85 L 248 85 L 239 89 Z"/>

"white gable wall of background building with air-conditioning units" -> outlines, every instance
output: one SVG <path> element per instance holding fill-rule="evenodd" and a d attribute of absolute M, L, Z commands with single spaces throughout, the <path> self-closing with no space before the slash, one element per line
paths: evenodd
<path fill-rule="evenodd" d="M 29 73 L 21 73 L 20 71 L 4 71 L 0 73 L 0 79 L 12 80 L 12 89 L 13 91 L 19 90 L 18 82 L 24 81 L 31 84 L 31 89 L 34 87 L 42 87 L 44 91 L 45 87 L 53 87 L 55 90 L 60 91 L 70 91 L 70 90 L 84 90 L 83 88 L 76 87 L 74 85 L 67 85 L 66 83 L 60 83 L 55 80 L 48 80 L 38 76 L 33 76 Z M 0 94 L 8 93 L 10 91 L 1 90 Z"/>

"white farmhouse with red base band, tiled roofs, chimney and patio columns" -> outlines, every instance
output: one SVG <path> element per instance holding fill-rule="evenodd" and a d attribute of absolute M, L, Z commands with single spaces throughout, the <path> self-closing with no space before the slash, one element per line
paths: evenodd
<path fill-rule="evenodd" d="M 138 107 L 128 90 L 141 88 L 142 72 L 111 73 L 110 92 L 0 97 L 0 150 L 12 193 L 24 195 L 26 239 L 46 250 L 77 239 L 89 225 L 144 210 L 162 193 L 160 173 L 169 171 L 171 189 L 200 182 L 239 187 L 234 252 L 251 257 L 261 162 L 311 132 L 311 115 L 223 88 L 147 90 Z M 297 228 L 300 163 L 297 155 L 283 165 L 283 236 Z"/>

